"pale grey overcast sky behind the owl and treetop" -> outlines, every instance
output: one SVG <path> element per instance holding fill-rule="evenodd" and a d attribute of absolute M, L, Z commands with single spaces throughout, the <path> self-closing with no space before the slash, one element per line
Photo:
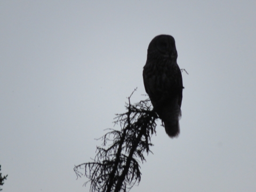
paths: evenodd
<path fill-rule="evenodd" d="M 147 47 L 175 38 L 183 73 L 181 133 L 157 126 L 131 191 L 256 190 L 255 1 L 1 1 L 3 191 L 89 191 L 74 165 L 135 87 Z M 159 122 L 158 122 L 159 124 Z M 119 129 L 119 127 L 116 127 Z"/>

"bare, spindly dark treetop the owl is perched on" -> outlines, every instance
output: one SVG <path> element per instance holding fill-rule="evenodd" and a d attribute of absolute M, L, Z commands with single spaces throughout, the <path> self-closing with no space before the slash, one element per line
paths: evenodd
<path fill-rule="evenodd" d="M 110 132 L 100 138 L 102 147 L 97 147 L 93 162 L 74 167 L 77 177 L 85 175 L 89 178 L 91 192 L 129 191 L 140 182 L 139 163 L 146 161 L 145 152 L 151 152 L 150 139 L 156 133 L 158 116 L 149 99 L 131 105 L 132 94 L 129 103 L 125 103 L 126 113 L 115 117 L 114 123 L 120 125 L 121 130 L 108 129 Z M 106 147 L 107 143 L 110 147 Z M 84 169 L 83 173 L 79 171 L 81 169 Z"/>

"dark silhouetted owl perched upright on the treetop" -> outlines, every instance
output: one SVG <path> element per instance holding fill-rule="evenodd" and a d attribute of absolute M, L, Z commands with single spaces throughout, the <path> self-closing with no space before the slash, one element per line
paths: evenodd
<path fill-rule="evenodd" d="M 143 82 L 151 103 L 164 123 L 169 137 L 180 133 L 182 75 L 177 64 L 175 40 L 170 35 L 158 35 L 148 45 Z"/>

